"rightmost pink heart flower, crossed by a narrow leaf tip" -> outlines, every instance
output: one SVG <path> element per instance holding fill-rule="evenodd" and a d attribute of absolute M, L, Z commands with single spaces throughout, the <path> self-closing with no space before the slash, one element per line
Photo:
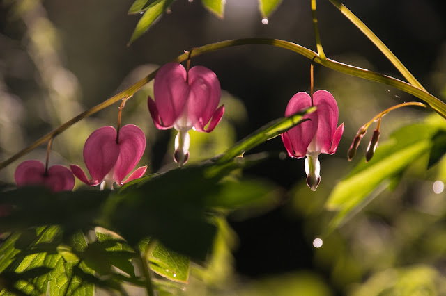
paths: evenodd
<path fill-rule="evenodd" d="M 313 105 L 317 107 L 314 113 L 305 115 L 308 118 L 302 124 L 282 133 L 288 155 L 293 158 L 305 158 L 307 185 L 316 190 L 321 182 L 321 164 L 318 155 L 334 154 L 337 151 L 344 123 L 337 128 L 339 110 L 332 94 L 326 90 L 318 90 L 313 94 Z M 312 106 L 312 98 L 307 92 L 295 94 L 286 106 L 285 116 L 291 116 L 304 108 Z"/>

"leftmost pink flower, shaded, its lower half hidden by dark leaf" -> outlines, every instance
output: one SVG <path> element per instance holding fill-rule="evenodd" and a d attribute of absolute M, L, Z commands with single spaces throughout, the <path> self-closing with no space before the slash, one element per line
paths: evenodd
<path fill-rule="evenodd" d="M 75 177 L 68 167 L 52 165 L 45 170 L 45 165 L 35 160 L 17 165 L 14 179 L 18 187 L 43 185 L 52 192 L 71 191 L 75 186 Z"/>

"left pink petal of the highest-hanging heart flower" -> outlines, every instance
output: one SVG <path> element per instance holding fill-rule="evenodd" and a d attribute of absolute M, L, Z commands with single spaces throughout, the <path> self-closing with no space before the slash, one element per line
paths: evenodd
<path fill-rule="evenodd" d="M 160 126 L 174 125 L 178 117 L 183 114 L 189 92 L 190 87 L 186 83 L 186 70 L 183 65 L 167 63 L 158 70 L 153 84 L 153 94 L 162 121 Z"/>

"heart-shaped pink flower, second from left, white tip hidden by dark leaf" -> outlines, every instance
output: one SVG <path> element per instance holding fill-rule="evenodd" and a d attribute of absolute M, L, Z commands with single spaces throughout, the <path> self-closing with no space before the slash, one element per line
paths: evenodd
<path fill-rule="evenodd" d="M 113 189 L 113 183 L 123 185 L 144 175 L 147 166 L 139 167 L 123 181 L 144 154 L 144 132 L 138 126 L 128 124 L 120 129 L 118 140 L 117 136 L 113 126 L 102 126 L 86 139 L 84 161 L 91 174 L 91 180 L 79 165 L 70 165 L 73 174 L 80 181 L 89 186 L 101 184 L 101 188 L 107 183 Z"/>

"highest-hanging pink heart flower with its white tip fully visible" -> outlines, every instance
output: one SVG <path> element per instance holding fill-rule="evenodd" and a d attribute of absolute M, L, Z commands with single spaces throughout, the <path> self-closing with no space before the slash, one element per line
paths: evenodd
<path fill-rule="evenodd" d="M 188 131 L 209 133 L 222 119 L 224 105 L 217 108 L 220 82 L 206 67 L 195 66 L 187 72 L 183 65 L 168 63 L 158 70 L 153 93 L 155 101 L 151 97 L 147 101 L 153 123 L 157 129 L 178 131 L 174 160 L 183 165 L 189 158 Z"/>

